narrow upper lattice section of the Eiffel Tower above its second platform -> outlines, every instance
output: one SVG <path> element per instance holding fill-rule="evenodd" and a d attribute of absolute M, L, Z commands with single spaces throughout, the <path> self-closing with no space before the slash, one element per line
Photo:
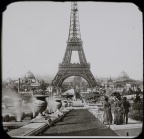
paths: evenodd
<path fill-rule="evenodd" d="M 70 28 L 68 42 L 81 42 L 77 2 L 71 2 Z"/>

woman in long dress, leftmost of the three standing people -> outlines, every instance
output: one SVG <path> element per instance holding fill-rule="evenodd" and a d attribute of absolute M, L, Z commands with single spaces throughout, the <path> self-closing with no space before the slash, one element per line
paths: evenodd
<path fill-rule="evenodd" d="M 112 123 L 112 113 L 111 113 L 111 104 L 108 102 L 108 98 L 105 98 L 104 101 L 104 115 L 103 115 L 103 123 L 111 124 Z"/>

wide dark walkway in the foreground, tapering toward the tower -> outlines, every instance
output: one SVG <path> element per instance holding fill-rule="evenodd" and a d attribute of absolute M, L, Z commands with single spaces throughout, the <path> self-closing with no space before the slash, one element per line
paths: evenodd
<path fill-rule="evenodd" d="M 118 136 L 86 109 L 74 109 L 41 136 Z"/>

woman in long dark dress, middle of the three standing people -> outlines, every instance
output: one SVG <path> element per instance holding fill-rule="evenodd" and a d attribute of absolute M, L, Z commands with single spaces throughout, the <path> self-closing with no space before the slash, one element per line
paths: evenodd
<path fill-rule="evenodd" d="M 123 124 L 123 101 L 120 96 L 117 98 L 115 103 L 114 124 Z"/>

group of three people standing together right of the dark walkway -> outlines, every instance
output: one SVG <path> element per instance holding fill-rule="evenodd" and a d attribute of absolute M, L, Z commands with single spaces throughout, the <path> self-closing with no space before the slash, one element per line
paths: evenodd
<path fill-rule="evenodd" d="M 138 96 L 135 101 L 140 101 Z M 109 102 L 108 97 L 105 97 L 105 101 L 103 103 L 104 106 L 104 114 L 103 114 L 103 123 L 104 124 L 128 124 L 128 113 L 129 108 L 131 107 L 129 101 L 126 97 L 117 96 L 116 102 L 114 104 L 114 117 L 111 112 L 111 103 Z"/>

